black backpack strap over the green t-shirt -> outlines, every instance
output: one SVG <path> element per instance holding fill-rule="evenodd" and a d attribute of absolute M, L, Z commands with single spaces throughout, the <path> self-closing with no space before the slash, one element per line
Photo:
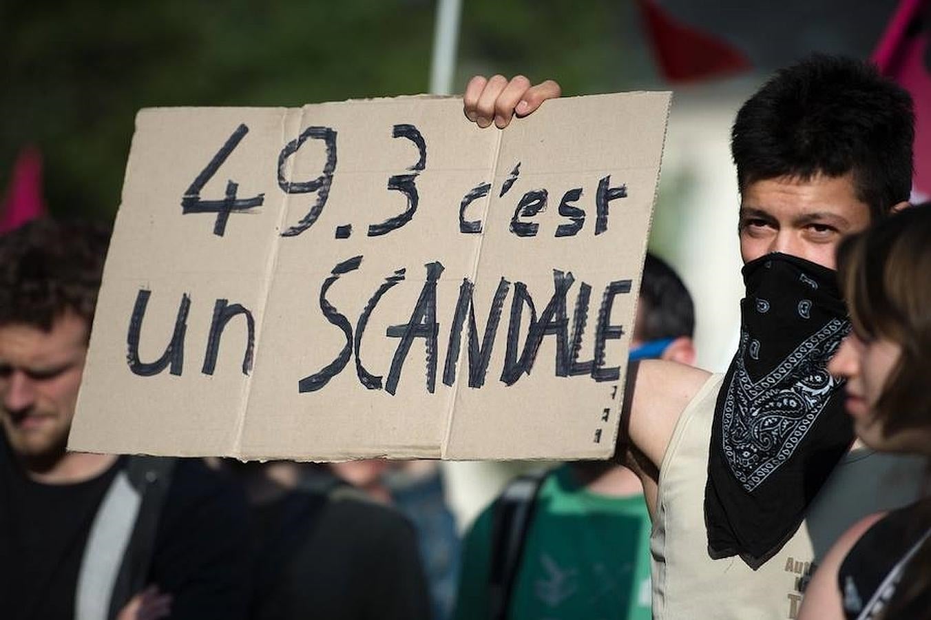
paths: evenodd
<path fill-rule="evenodd" d="M 488 583 L 490 620 L 505 620 L 507 617 L 536 496 L 548 474 L 549 471 L 543 470 L 514 478 L 492 505 L 492 563 Z"/>

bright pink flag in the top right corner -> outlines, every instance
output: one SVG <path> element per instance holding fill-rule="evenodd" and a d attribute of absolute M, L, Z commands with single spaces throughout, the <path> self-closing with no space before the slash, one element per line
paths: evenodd
<path fill-rule="evenodd" d="M 915 103 L 915 176 L 912 201 L 931 198 L 931 49 L 927 0 L 902 0 L 886 27 L 872 61 L 911 92 Z M 924 19 L 923 19 L 924 18 Z"/>

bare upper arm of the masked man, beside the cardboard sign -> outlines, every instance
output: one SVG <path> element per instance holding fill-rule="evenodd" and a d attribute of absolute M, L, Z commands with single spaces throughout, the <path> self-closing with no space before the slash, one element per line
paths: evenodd
<path fill-rule="evenodd" d="M 659 467 L 685 407 L 711 373 L 664 359 L 645 359 L 627 376 L 627 435 Z"/>

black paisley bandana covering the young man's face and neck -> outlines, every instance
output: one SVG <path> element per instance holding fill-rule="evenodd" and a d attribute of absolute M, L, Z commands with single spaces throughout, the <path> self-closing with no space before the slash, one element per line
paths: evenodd
<path fill-rule="evenodd" d="M 711 427 L 705 521 L 712 558 L 756 569 L 798 530 L 854 439 L 827 366 L 850 330 L 830 269 L 767 254 L 743 269 L 740 347 Z"/>

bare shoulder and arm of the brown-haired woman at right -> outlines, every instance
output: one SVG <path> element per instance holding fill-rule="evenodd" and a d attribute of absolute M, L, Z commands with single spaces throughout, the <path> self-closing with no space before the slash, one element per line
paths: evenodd
<path fill-rule="evenodd" d="M 843 559 L 847 557 L 860 536 L 870 529 L 873 523 L 882 519 L 884 513 L 877 513 L 860 519 L 843 532 L 837 542 L 830 547 L 828 555 L 818 565 L 815 576 L 805 588 L 805 598 L 799 610 L 798 620 L 843 620 L 841 589 L 837 583 L 837 573 Z"/>

